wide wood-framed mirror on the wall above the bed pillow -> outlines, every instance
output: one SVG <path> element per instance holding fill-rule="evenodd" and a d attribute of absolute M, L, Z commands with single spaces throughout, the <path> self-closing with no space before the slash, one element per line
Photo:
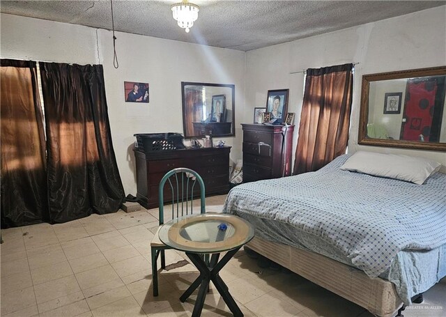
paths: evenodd
<path fill-rule="evenodd" d="M 362 76 L 359 144 L 446 150 L 446 66 Z"/>

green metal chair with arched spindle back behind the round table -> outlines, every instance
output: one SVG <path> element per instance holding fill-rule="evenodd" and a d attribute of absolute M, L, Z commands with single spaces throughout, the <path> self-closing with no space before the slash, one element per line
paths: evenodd
<path fill-rule="evenodd" d="M 158 194 L 160 226 L 151 242 L 153 296 L 158 295 L 157 258 L 161 254 L 161 268 L 166 268 L 164 250 L 171 249 L 171 247 L 164 245 L 158 236 L 158 231 L 164 224 L 164 201 L 171 203 L 171 219 L 174 219 L 192 214 L 192 201 L 194 196 L 198 196 L 198 194 L 200 196 L 200 213 L 205 213 L 204 183 L 201 176 L 192 169 L 173 169 L 167 172 L 161 180 Z"/>

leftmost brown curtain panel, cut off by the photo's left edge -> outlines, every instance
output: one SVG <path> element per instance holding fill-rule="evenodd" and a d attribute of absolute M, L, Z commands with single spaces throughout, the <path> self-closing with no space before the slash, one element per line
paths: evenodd
<path fill-rule="evenodd" d="M 1 60 L 1 228 L 48 219 L 45 135 L 36 83 L 36 62 Z"/>

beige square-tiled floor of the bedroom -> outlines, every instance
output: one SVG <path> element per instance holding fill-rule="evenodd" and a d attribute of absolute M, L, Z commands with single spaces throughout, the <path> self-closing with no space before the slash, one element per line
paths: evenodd
<path fill-rule="evenodd" d="M 207 210 L 220 212 L 224 198 L 208 197 Z M 159 275 L 160 296 L 152 296 L 157 224 L 157 209 L 120 210 L 2 230 L 1 316 L 191 316 L 196 293 L 185 303 L 178 297 L 198 273 L 183 253 L 167 251 L 169 270 Z M 371 316 L 291 272 L 260 269 L 243 251 L 220 275 L 245 316 Z M 446 316 L 446 281 L 424 298 L 404 316 Z M 232 316 L 213 287 L 202 316 Z"/>

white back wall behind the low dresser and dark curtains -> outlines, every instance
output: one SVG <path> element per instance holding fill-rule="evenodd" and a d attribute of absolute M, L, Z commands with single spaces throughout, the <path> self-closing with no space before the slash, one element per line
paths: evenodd
<path fill-rule="evenodd" d="M 178 28 L 178 32 L 184 31 Z M 120 32 L 116 38 L 117 70 L 111 31 L 1 14 L 1 58 L 103 65 L 114 151 L 125 194 L 136 194 L 133 134 L 183 133 L 181 82 L 235 84 L 236 138 L 241 140 L 245 52 Z M 150 102 L 124 102 L 124 81 L 148 82 Z M 224 138 L 226 145 L 233 146 L 233 161 L 242 156 L 241 141 L 236 138 Z"/>

